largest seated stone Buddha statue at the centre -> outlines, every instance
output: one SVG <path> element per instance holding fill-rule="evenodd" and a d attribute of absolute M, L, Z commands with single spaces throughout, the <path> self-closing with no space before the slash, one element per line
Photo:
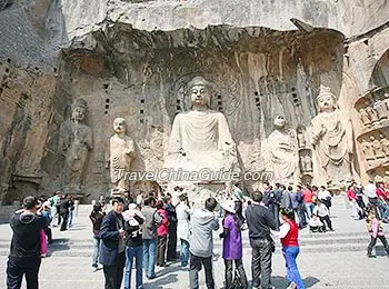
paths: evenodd
<path fill-rule="evenodd" d="M 191 110 L 174 118 L 164 167 L 183 171 L 235 170 L 236 143 L 226 117 L 210 109 L 209 82 L 196 77 L 188 83 L 188 91 Z"/>

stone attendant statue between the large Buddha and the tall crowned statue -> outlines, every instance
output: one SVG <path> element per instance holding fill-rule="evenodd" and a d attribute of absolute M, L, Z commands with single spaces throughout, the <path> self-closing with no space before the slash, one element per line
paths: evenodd
<path fill-rule="evenodd" d="M 266 170 L 272 171 L 273 181 L 282 183 L 297 183 L 299 176 L 299 156 L 297 133 L 286 128 L 283 117 L 276 117 L 275 131 L 262 146 L 262 158 Z"/>

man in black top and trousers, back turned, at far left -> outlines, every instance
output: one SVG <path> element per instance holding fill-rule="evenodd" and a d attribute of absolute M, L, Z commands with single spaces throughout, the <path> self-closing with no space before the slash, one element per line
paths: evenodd
<path fill-rule="evenodd" d="M 41 231 L 46 221 L 37 215 L 38 200 L 29 196 L 23 199 L 23 209 L 11 213 L 11 250 L 7 262 L 7 288 L 20 289 L 23 275 L 27 288 L 38 289 L 41 263 Z"/>

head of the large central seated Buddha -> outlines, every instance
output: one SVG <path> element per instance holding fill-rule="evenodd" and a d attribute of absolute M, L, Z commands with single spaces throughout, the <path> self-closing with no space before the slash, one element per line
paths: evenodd
<path fill-rule="evenodd" d="M 209 82 L 202 77 L 196 77 L 188 83 L 192 107 L 208 107 L 211 103 L 211 89 Z"/>

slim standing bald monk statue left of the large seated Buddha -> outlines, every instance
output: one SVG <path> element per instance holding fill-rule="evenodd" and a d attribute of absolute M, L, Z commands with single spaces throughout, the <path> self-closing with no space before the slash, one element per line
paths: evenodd
<path fill-rule="evenodd" d="M 129 180 L 126 178 L 134 159 L 133 140 L 127 136 L 127 123 L 123 118 L 113 120 L 114 134 L 110 139 L 109 168 L 112 183 L 112 195 L 123 195 L 129 191 Z"/>

